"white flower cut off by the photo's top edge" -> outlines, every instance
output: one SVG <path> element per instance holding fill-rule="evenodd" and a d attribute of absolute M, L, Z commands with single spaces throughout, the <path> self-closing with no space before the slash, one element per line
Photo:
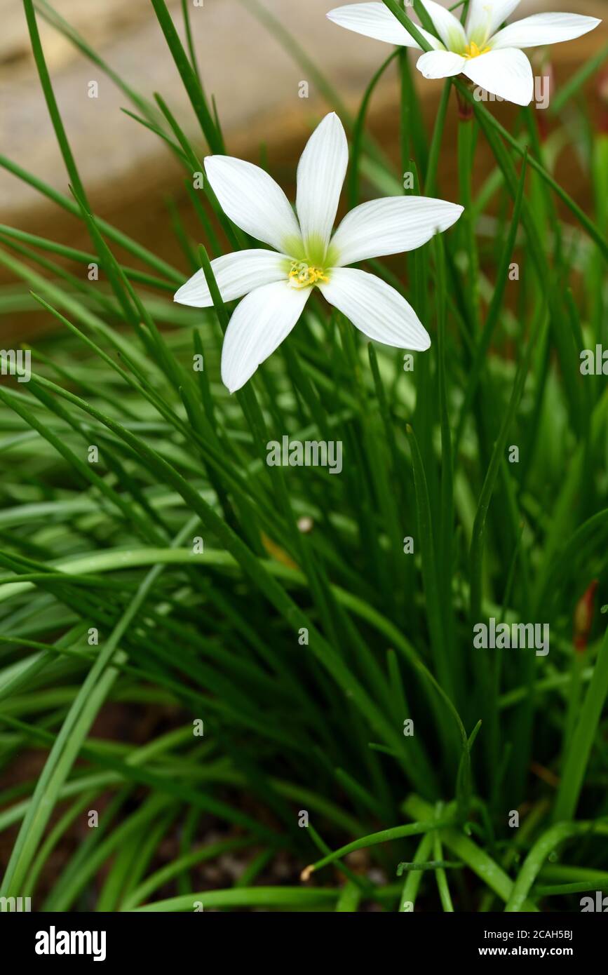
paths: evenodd
<path fill-rule="evenodd" d="M 443 42 L 418 28 L 433 48 L 418 59 L 417 67 L 425 78 L 462 73 L 486 92 L 518 105 L 529 105 L 534 96 L 532 65 L 521 48 L 571 41 L 601 23 L 579 14 L 534 14 L 499 30 L 519 0 L 471 0 L 463 27 L 434 0 L 421 3 Z M 383 3 L 349 4 L 329 11 L 327 17 L 358 34 L 420 51 L 420 45 Z"/>

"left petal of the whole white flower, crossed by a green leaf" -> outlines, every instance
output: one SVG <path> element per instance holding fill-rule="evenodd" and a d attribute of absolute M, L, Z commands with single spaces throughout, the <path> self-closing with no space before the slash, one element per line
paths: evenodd
<path fill-rule="evenodd" d="M 274 251 L 238 251 L 216 257 L 211 261 L 211 268 L 222 301 L 232 301 L 261 285 L 284 280 L 288 273 L 288 266 L 285 266 L 288 261 L 285 254 Z M 213 304 L 203 268 L 175 292 L 173 301 L 193 308 L 209 308 Z"/>

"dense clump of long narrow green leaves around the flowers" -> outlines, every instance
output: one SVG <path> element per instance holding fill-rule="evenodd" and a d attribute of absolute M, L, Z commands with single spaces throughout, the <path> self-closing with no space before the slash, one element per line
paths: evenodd
<path fill-rule="evenodd" d="M 580 98 L 589 66 L 556 96 L 542 141 L 533 112 L 510 133 L 457 79 L 428 131 L 400 57 L 398 169 L 366 131 L 393 56 L 351 118 L 281 27 L 351 136 L 351 205 L 402 192 L 403 168 L 440 190 L 452 88 L 471 100 L 458 149 L 467 217 L 407 259 L 373 262 L 432 331 L 413 370 L 311 301 L 230 397 L 219 381 L 230 307 L 214 288 L 213 309 L 171 301 L 199 266 L 213 286 L 208 254 L 248 246 L 208 185 L 192 191 L 201 158 L 225 145 L 188 21 L 184 42 L 152 0 L 197 138 L 44 0 L 24 9 L 71 191 L 0 162 L 80 219 L 91 248 L 0 227 L 0 264 L 20 283 L 0 305 L 40 308 L 56 326 L 31 350 L 31 380 L 0 385 L 7 782 L 25 749 L 44 755 L 35 780 L 0 793 L 0 829 L 15 836 L 2 894 L 54 911 L 578 910 L 582 885 L 608 878 L 608 640 L 592 611 L 608 585 L 608 399 L 602 377 L 580 370 L 581 351 L 606 339 L 608 137 Z M 182 164 L 201 230 L 190 240 L 170 206 L 181 267 L 92 212 L 40 16 Z M 479 139 L 495 168 L 476 187 Z M 556 179 L 565 141 L 594 213 Z M 341 441 L 340 476 L 268 466 L 267 444 L 285 435 Z M 551 651 L 475 648 L 491 618 L 548 624 Z M 143 743 L 100 738 L 111 702 L 164 723 Z M 95 810 L 97 828 L 49 882 L 51 857 Z M 222 838 L 207 840 L 211 829 Z M 374 872 L 354 867 L 360 850 Z M 242 878 L 199 889 L 201 864 L 230 852 Z M 285 853 L 293 877 L 281 884 L 270 865 Z"/>

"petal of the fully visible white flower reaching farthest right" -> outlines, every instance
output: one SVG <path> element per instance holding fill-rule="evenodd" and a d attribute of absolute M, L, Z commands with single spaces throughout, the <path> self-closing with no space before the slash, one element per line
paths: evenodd
<path fill-rule="evenodd" d="M 361 203 L 347 214 L 331 241 L 337 266 L 358 260 L 401 254 L 421 247 L 437 233 L 447 230 L 463 208 L 426 196 L 389 196 Z"/>

